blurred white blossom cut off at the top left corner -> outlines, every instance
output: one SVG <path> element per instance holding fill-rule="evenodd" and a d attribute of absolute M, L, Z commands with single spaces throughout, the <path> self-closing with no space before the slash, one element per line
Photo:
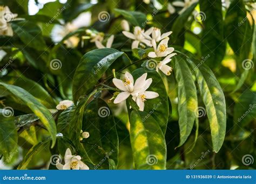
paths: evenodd
<path fill-rule="evenodd" d="M 0 6 L 0 35 L 5 36 L 14 36 L 14 32 L 12 31 L 11 22 L 18 15 L 16 13 L 12 13 L 8 6 Z"/>

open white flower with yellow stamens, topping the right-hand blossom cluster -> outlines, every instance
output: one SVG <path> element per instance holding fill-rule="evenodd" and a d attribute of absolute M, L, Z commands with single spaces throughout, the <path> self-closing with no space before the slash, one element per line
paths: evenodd
<path fill-rule="evenodd" d="M 168 47 L 168 40 L 169 38 L 165 38 L 160 41 L 160 43 L 156 44 L 155 40 L 152 40 L 151 43 L 154 48 L 154 52 L 150 52 L 148 56 L 150 58 L 158 58 L 158 57 L 165 57 L 168 54 L 171 54 L 174 51 L 173 47 Z"/>

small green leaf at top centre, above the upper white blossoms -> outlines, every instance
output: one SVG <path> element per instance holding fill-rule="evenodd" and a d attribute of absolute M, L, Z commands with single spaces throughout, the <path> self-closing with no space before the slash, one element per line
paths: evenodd
<path fill-rule="evenodd" d="M 146 15 L 138 11 L 125 11 L 120 9 L 114 9 L 117 13 L 120 13 L 128 22 L 133 26 L 144 27 L 147 23 Z"/>

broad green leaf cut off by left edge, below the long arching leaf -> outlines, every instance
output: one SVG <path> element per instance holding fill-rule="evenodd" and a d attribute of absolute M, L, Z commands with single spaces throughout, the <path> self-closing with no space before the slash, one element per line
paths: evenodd
<path fill-rule="evenodd" d="M 13 111 L 0 109 L 0 153 L 4 155 L 4 160 L 9 160 L 17 149 L 18 133 L 12 115 Z"/>

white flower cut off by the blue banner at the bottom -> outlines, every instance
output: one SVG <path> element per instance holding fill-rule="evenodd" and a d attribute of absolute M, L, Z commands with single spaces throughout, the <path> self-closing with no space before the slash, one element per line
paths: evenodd
<path fill-rule="evenodd" d="M 56 167 L 59 170 L 89 170 L 89 167 L 81 161 L 81 157 L 79 155 L 72 155 L 70 148 L 66 149 L 65 153 L 65 164 L 60 164 L 59 160 L 57 161 Z"/>

